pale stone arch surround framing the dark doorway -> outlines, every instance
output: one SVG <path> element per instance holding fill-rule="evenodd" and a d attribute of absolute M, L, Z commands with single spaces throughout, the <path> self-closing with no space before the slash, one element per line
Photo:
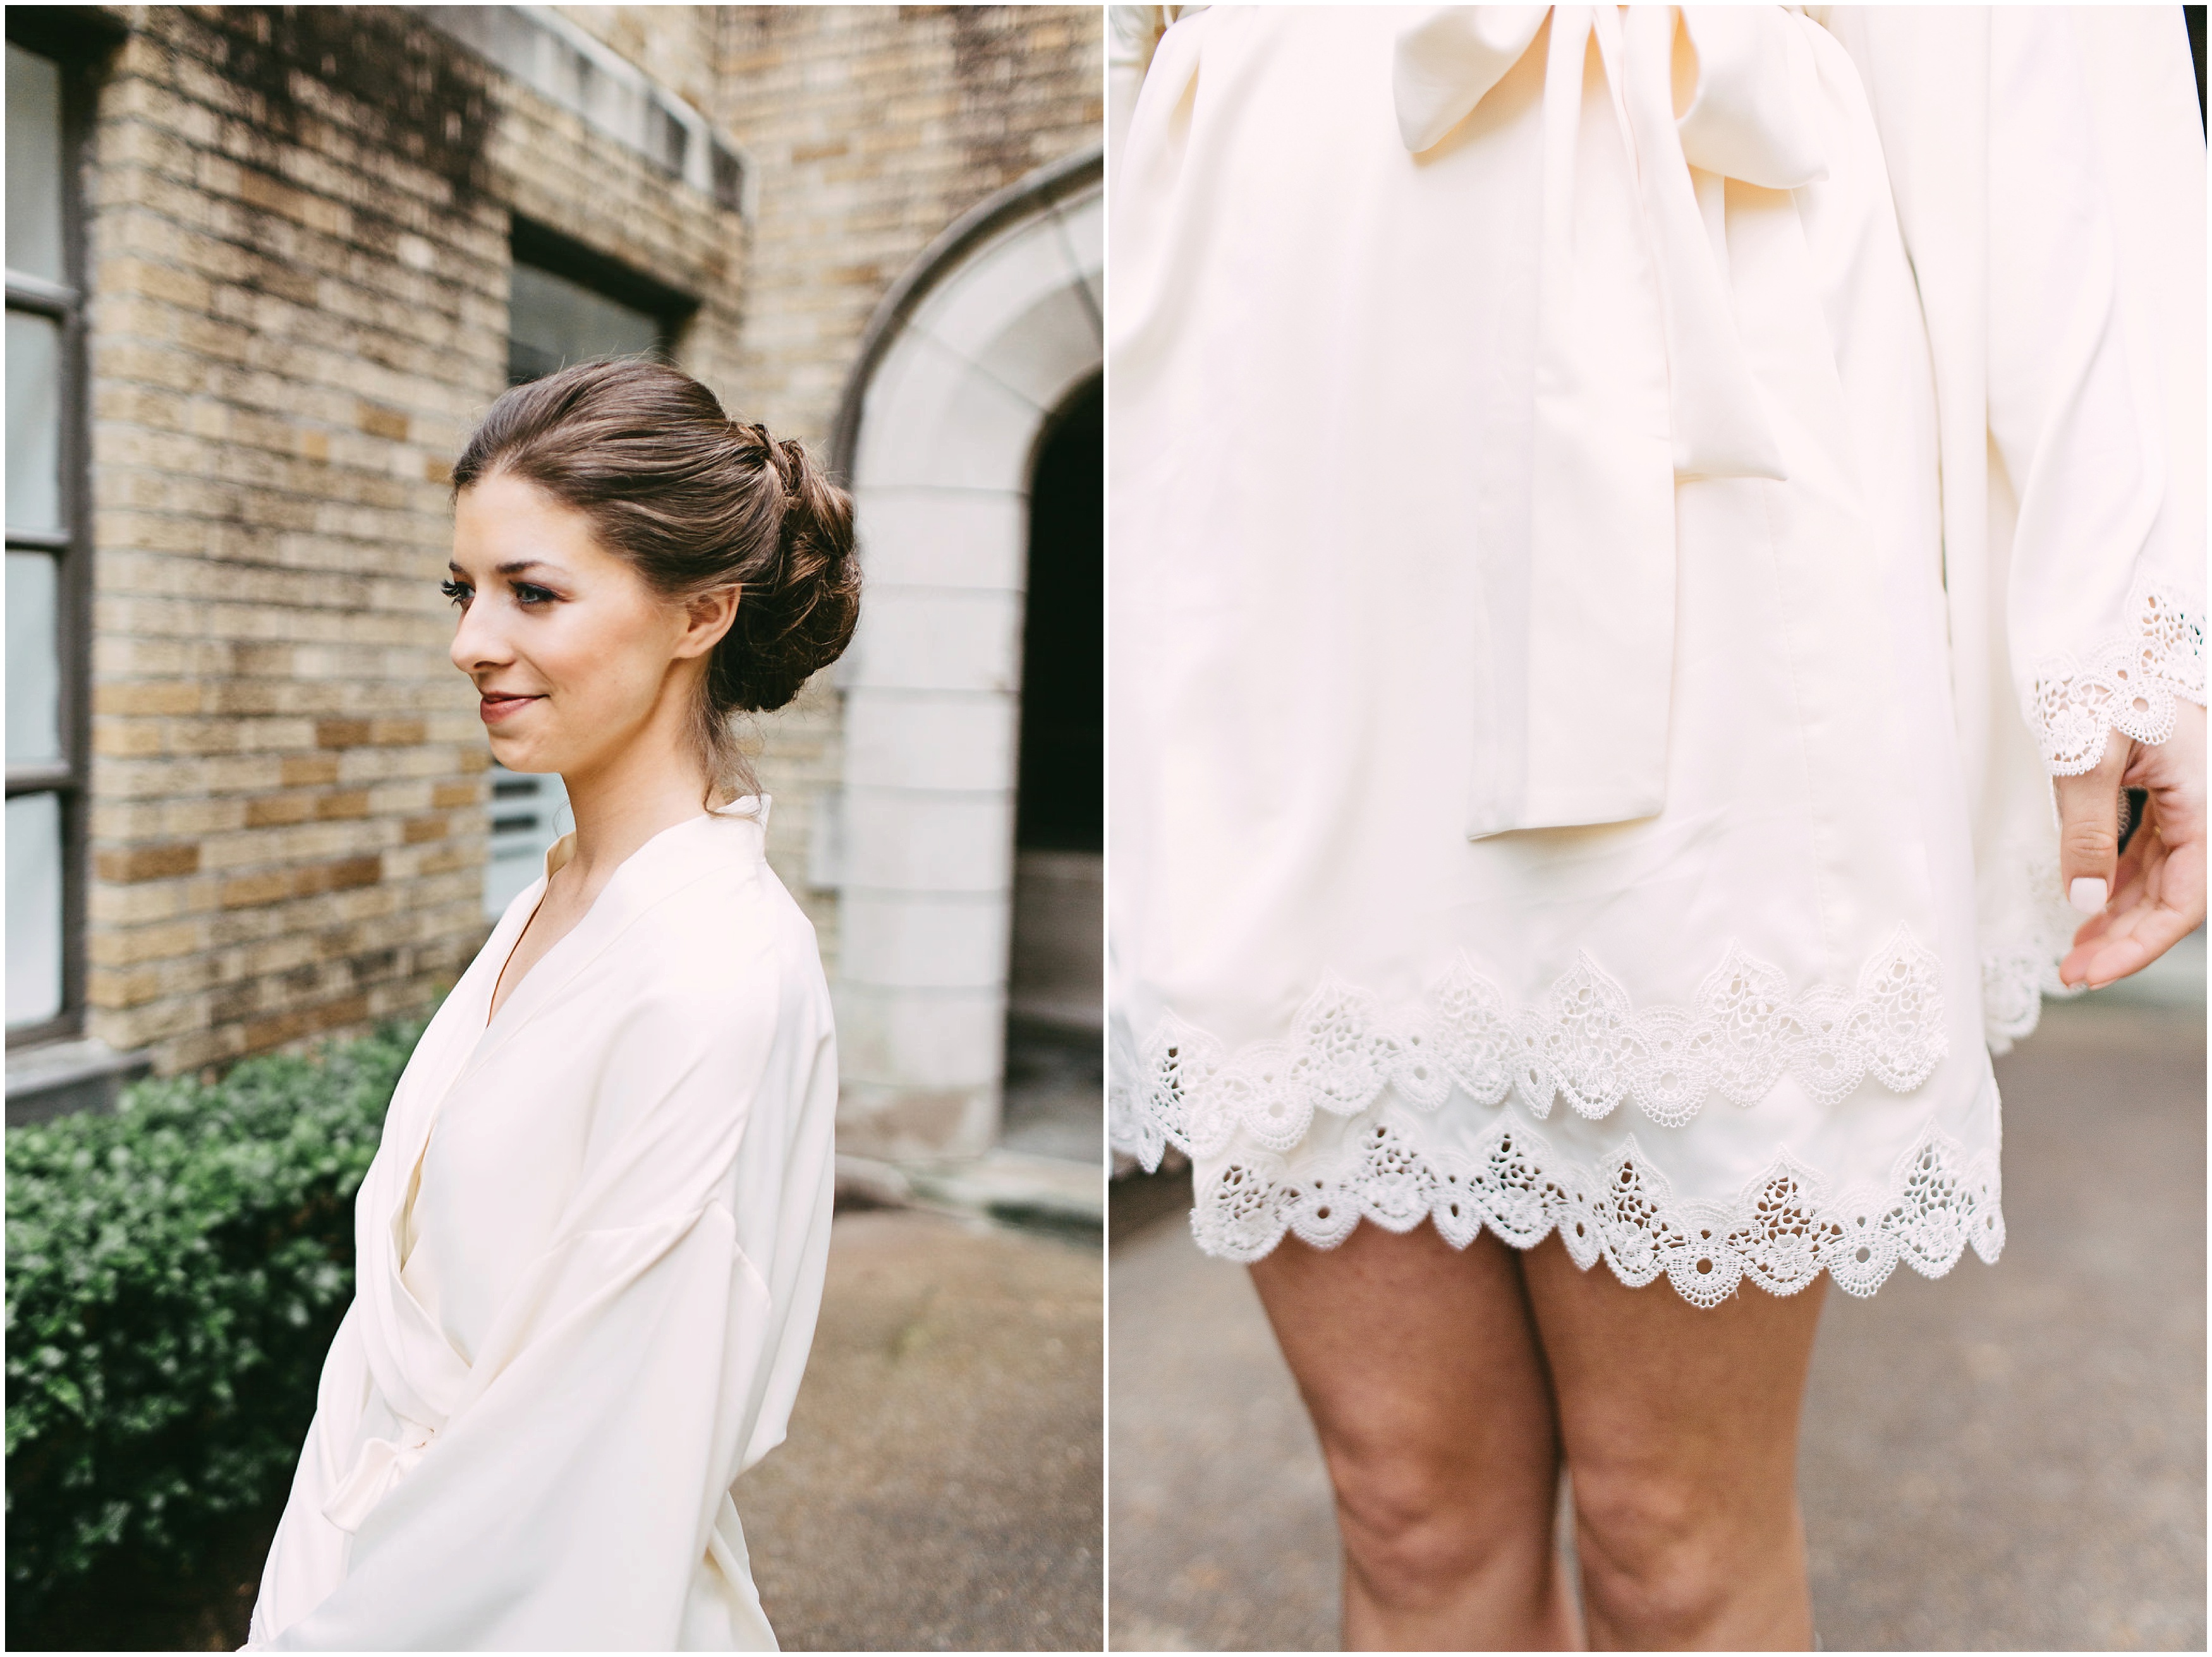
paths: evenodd
<path fill-rule="evenodd" d="M 865 1157 L 1000 1130 L 1031 493 L 1102 367 L 1099 184 L 1091 150 L 938 237 L 838 409 L 867 575 L 841 664 L 838 1133 Z"/>

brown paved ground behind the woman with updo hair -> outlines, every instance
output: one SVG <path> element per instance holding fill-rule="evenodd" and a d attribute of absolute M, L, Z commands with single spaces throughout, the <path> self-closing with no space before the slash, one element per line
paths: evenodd
<path fill-rule="evenodd" d="M 785 1650 L 1097 1650 L 1099 1243 L 838 1215 L 790 1438 L 737 1489 Z"/>

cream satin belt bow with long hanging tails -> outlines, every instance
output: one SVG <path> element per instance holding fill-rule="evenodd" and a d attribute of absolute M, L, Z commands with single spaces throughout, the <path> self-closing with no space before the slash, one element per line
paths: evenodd
<path fill-rule="evenodd" d="M 1787 476 L 1736 334 L 1723 179 L 1827 177 L 1818 64 L 1778 7 L 1440 7 L 1396 42 L 1405 148 L 1467 119 L 1546 15 L 1535 336 L 1504 367 L 1526 385 L 1484 431 L 1531 465 L 1484 482 L 1513 498 L 1482 507 L 1491 688 L 1471 836 L 1663 805 L 1674 482 Z"/>

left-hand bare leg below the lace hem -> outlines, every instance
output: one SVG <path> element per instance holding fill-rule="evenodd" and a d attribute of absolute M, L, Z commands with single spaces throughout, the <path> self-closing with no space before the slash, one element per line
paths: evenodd
<path fill-rule="evenodd" d="M 1336 1484 L 1347 1650 L 1568 1650 L 1559 1434 L 1520 1261 L 1363 1223 L 1252 1265 Z"/>

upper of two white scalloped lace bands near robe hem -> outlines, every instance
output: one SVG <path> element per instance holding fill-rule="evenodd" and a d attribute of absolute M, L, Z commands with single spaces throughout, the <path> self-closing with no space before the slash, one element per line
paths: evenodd
<path fill-rule="evenodd" d="M 1555 1097 L 1590 1119 L 1632 1097 L 1655 1124 L 1679 1128 L 1708 1093 L 1750 1106 L 1785 1073 L 1820 1104 L 1838 1104 L 1867 1073 L 1909 1093 L 1947 1051 L 1936 956 L 1902 925 L 1856 991 L 1792 996 L 1778 967 L 1730 945 L 1694 1007 L 1644 1011 L 1582 951 L 1542 1000 L 1515 1011 L 1462 953 L 1420 1004 L 1394 1015 L 1332 976 L 1290 1040 L 1237 1053 L 1170 1013 L 1124 1071 L 1133 1084 L 1115 1100 L 1115 1144 L 1146 1168 L 1170 1144 L 1217 1157 L 1239 1130 L 1290 1150 L 1314 1111 L 1356 1115 L 1385 1086 L 1416 1111 L 1436 1111 L 1453 1086 L 1482 1104 L 1513 1091 L 1537 1122 Z"/>

